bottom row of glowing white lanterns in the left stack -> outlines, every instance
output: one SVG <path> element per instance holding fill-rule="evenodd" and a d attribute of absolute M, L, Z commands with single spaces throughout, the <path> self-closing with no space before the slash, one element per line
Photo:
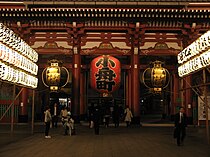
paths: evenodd
<path fill-rule="evenodd" d="M 6 65 L 2 61 L 0 61 L 0 79 L 32 88 L 37 88 L 38 85 L 38 78 Z"/>

